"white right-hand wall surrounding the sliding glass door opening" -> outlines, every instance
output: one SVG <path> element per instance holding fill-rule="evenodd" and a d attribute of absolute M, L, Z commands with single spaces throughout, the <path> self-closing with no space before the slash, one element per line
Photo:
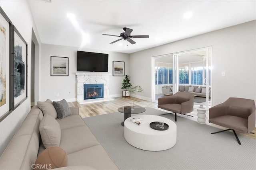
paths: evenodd
<path fill-rule="evenodd" d="M 130 54 L 130 78 L 151 98 L 151 58 L 212 46 L 212 104 L 229 97 L 256 101 L 256 20 Z M 226 76 L 221 76 L 225 71 Z"/>

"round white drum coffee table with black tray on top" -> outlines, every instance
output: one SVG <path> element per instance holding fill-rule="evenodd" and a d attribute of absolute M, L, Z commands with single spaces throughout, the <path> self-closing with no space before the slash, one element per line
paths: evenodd
<path fill-rule="evenodd" d="M 170 149 L 176 144 L 177 127 L 170 119 L 156 115 L 135 115 L 132 118 L 141 118 L 142 124 L 136 125 L 129 118 L 124 121 L 124 138 L 130 145 L 143 150 L 159 151 Z M 160 120 L 169 125 L 167 130 L 158 131 L 150 127 L 151 122 Z"/>

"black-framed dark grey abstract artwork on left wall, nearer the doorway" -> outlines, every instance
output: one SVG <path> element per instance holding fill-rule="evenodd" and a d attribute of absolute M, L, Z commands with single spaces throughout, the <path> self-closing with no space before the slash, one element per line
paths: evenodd
<path fill-rule="evenodd" d="M 28 98 L 28 44 L 13 25 L 13 110 Z"/>

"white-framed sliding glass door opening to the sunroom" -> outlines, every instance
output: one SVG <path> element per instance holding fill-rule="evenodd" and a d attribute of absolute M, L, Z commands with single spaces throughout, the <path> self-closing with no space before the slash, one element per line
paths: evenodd
<path fill-rule="evenodd" d="M 211 106 L 211 53 L 206 47 L 152 58 L 152 101 L 178 91 L 194 93 L 194 104 Z M 165 90 L 163 90 L 165 88 Z"/>

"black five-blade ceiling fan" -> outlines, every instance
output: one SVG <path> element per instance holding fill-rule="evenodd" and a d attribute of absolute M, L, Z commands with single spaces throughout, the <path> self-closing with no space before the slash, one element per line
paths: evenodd
<path fill-rule="evenodd" d="M 121 39 L 127 40 L 131 44 L 135 44 L 136 42 L 133 41 L 131 38 L 149 38 L 149 35 L 131 35 L 133 29 L 124 27 L 124 33 L 120 33 L 119 35 L 110 35 L 110 34 L 102 34 L 102 35 L 110 35 L 115 37 L 122 37 L 116 41 L 111 42 L 110 44 L 116 43 L 117 41 L 120 41 Z"/>

